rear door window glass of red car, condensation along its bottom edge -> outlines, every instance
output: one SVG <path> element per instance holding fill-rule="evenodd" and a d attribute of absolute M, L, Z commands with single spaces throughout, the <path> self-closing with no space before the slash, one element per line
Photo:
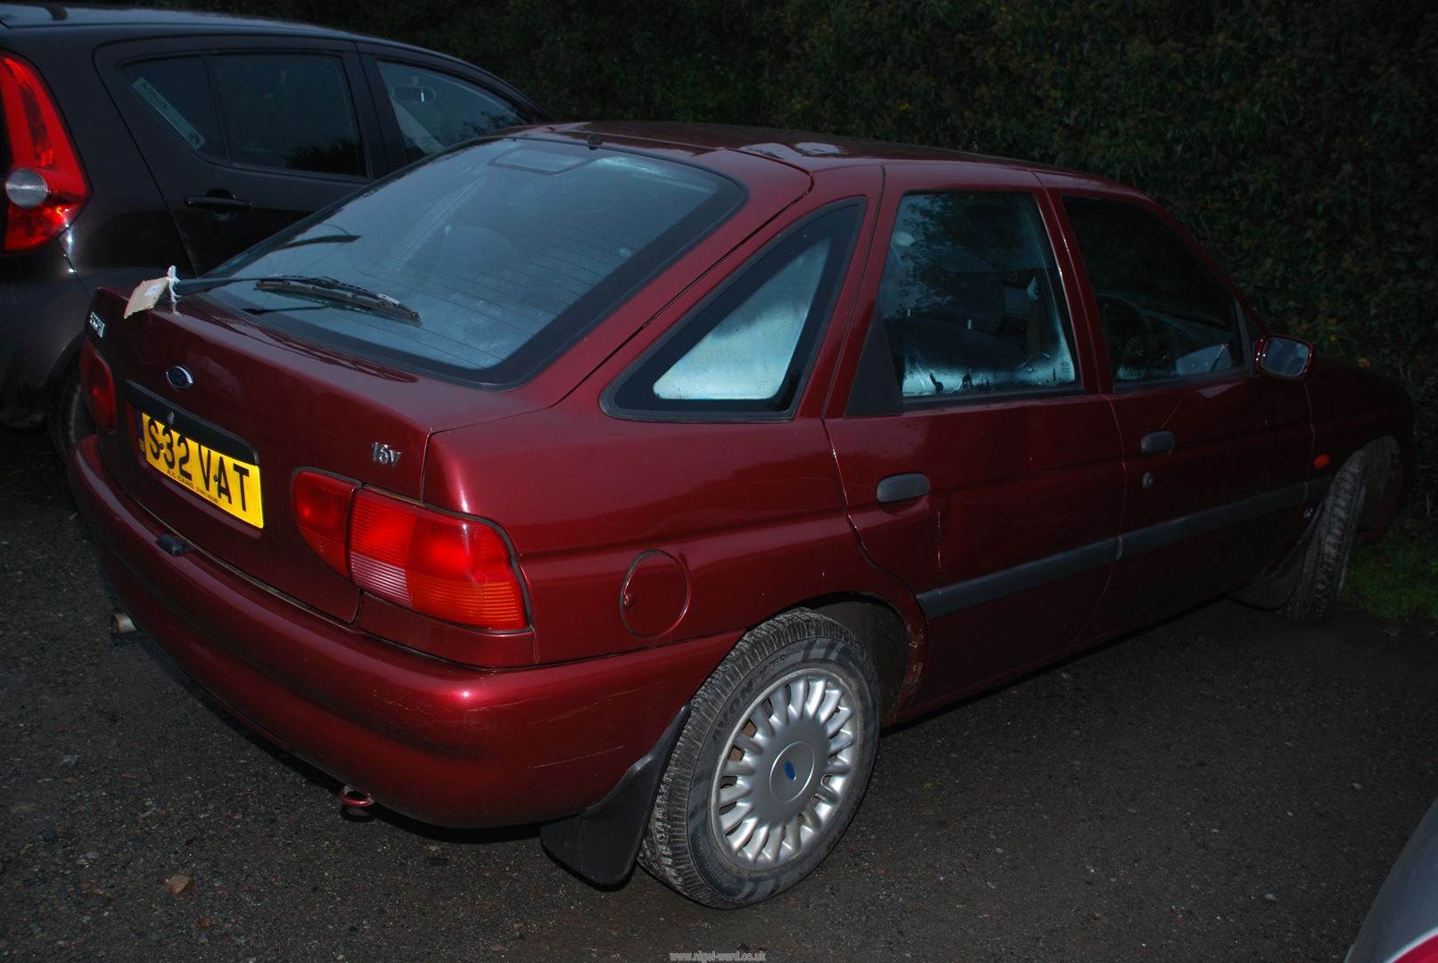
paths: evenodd
<path fill-rule="evenodd" d="M 1058 269 L 1031 195 L 905 197 L 877 312 L 907 400 L 1078 384 Z"/>

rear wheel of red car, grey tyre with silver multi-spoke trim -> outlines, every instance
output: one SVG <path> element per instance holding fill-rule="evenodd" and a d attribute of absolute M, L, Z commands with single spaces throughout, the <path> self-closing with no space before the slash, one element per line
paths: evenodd
<path fill-rule="evenodd" d="M 640 865 L 718 908 L 807 877 L 869 785 L 877 693 L 869 653 L 833 619 L 797 609 L 749 631 L 690 703 Z"/>

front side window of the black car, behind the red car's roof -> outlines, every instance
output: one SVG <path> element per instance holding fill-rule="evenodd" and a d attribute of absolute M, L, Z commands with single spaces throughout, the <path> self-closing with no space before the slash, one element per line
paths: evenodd
<path fill-rule="evenodd" d="M 508 101 L 444 73 L 381 60 L 380 78 L 404 137 L 406 161 L 525 122 Z"/>

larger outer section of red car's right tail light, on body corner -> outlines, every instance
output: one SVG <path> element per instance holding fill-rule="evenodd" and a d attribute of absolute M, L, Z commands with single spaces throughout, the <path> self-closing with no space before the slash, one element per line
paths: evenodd
<path fill-rule="evenodd" d="M 528 625 L 509 546 L 475 519 L 361 490 L 349 572 L 360 588 L 434 618 L 492 631 Z"/>

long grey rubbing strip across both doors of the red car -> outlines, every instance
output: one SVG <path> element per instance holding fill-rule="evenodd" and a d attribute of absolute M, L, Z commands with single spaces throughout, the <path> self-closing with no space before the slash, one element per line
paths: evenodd
<path fill-rule="evenodd" d="M 1290 484 L 1277 492 L 1267 492 L 1251 499 L 1244 499 L 1242 502 L 1221 504 L 1217 509 L 1195 512 L 1194 515 L 1185 515 L 1171 522 L 1135 529 L 1116 539 L 1104 539 L 1093 545 L 1068 549 L 1067 552 L 1015 565 L 1014 568 L 1007 568 L 991 575 L 981 575 L 966 582 L 943 585 L 928 592 L 920 592 L 919 605 L 923 608 L 926 618 L 952 615 L 965 608 L 992 602 L 1005 595 L 1037 588 L 1045 582 L 1055 582 L 1070 575 L 1078 575 L 1080 572 L 1109 565 L 1122 558 L 1143 555 L 1145 552 L 1152 552 L 1166 545 L 1182 542 L 1183 539 L 1257 519 L 1270 512 L 1280 512 L 1296 504 L 1307 504 L 1323 497 L 1332 483 L 1333 476 L 1300 481 L 1299 484 Z"/>

